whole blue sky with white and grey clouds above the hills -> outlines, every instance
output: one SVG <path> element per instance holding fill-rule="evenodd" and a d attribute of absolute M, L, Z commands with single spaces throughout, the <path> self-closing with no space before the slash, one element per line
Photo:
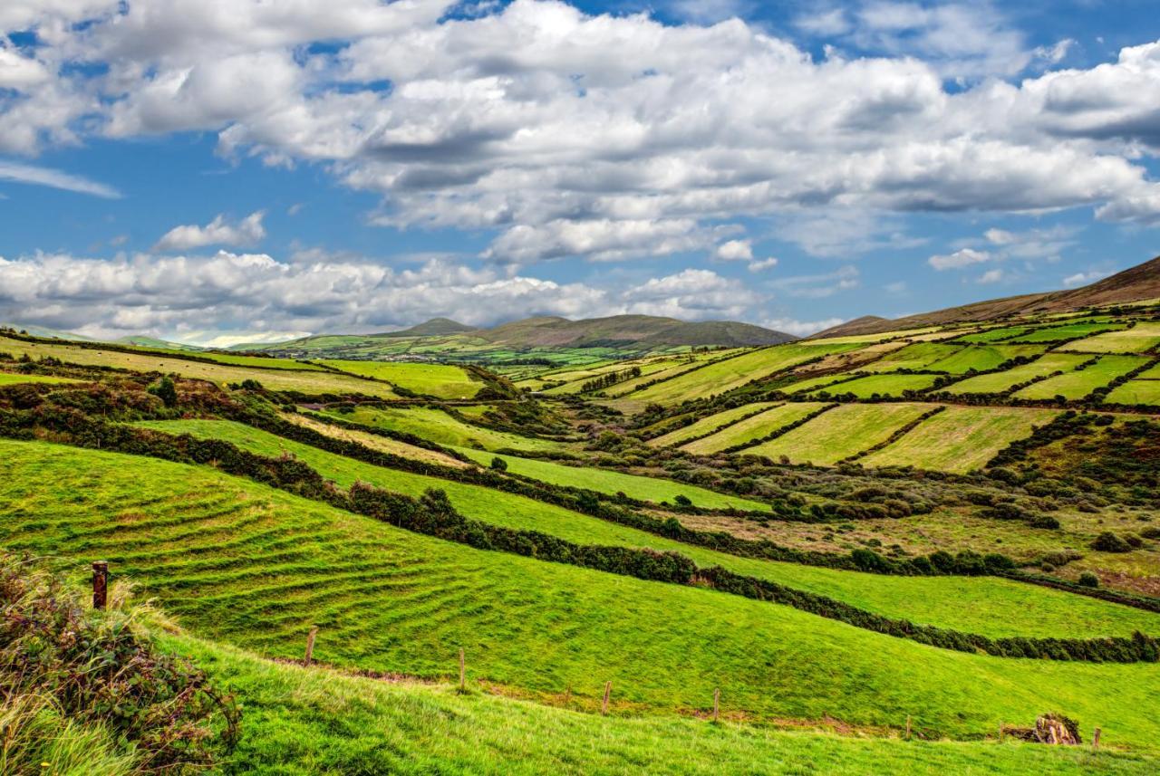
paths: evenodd
<path fill-rule="evenodd" d="M 0 322 L 806 335 L 1160 254 L 1154 2 L 3 0 Z"/>

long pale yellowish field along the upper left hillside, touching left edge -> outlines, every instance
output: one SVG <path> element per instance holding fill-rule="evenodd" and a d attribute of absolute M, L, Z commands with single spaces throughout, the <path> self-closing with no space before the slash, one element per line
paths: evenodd
<path fill-rule="evenodd" d="M 379 398 L 396 398 L 391 387 L 370 380 L 360 380 L 343 374 L 327 374 L 318 367 L 305 367 L 302 371 L 290 368 L 255 369 L 229 364 L 205 364 L 188 361 L 174 356 L 152 353 L 125 353 L 114 350 L 96 350 L 78 345 L 42 345 L 0 337 L 0 352 L 14 356 L 28 354 L 31 358 L 51 356 L 70 364 L 85 366 L 114 366 L 137 372 L 176 373 L 184 378 L 209 380 L 218 385 L 256 380 L 273 390 L 297 390 L 304 394 L 363 394 Z"/>

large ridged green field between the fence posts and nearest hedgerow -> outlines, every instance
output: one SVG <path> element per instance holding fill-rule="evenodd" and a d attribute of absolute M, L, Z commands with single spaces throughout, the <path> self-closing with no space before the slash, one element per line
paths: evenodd
<path fill-rule="evenodd" d="M 0 451 L 6 547 L 106 558 L 195 632 L 270 656 L 299 657 L 317 624 L 324 661 L 448 678 L 463 647 L 473 679 L 530 697 L 572 687 L 592 710 L 612 681 L 616 715 L 705 709 L 720 688 L 752 720 L 898 730 L 912 715 L 923 735 L 972 738 L 1060 710 L 1111 746 L 1154 749 L 1160 735 L 1155 664 L 937 650 L 713 591 L 448 544 L 210 469 L 38 442 Z M 363 729 L 328 719 L 319 730 Z M 283 742 L 293 756 L 293 738 Z"/>

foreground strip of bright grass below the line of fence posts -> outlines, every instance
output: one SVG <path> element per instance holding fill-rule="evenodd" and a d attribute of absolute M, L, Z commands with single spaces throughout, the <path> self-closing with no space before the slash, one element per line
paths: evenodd
<path fill-rule="evenodd" d="M 189 636 L 162 643 L 196 659 L 242 703 L 245 735 L 234 760 L 254 776 L 636 776 L 645 770 L 799 776 L 821 769 L 834 776 L 1139 776 L 1160 768 L 1147 754 L 1087 747 L 904 742 L 755 727 L 730 722 L 727 695 L 719 724 L 600 717 L 575 710 L 578 704 L 556 708 L 480 691 L 470 660 L 471 691 L 459 695 L 450 683 L 382 682 L 307 669 Z M 563 705 L 563 698 L 553 701 Z"/>

